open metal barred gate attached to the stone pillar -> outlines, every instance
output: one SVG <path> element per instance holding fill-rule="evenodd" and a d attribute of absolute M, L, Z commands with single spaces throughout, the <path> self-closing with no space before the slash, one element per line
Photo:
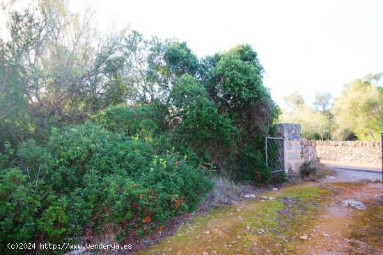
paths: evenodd
<path fill-rule="evenodd" d="M 272 167 L 272 173 L 285 170 L 284 138 L 265 138 L 266 165 Z"/>

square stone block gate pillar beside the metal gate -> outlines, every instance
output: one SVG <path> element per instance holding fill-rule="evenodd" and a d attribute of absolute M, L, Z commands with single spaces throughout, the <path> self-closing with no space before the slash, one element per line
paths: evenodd
<path fill-rule="evenodd" d="M 302 165 L 303 160 L 301 156 L 301 124 L 295 123 L 279 123 L 276 124 L 276 132 L 284 140 L 285 151 L 285 171 L 296 172 L 299 166 Z"/>

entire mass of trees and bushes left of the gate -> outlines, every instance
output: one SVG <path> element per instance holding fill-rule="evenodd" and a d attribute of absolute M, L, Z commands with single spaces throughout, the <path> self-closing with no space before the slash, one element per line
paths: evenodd
<path fill-rule="evenodd" d="M 211 189 L 201 164 L 273 181 L 260 149 L 279 108 L 256 51 L 244 44 L 200 61 L 186 42 L 104 36 L 87 14 L 44 1 L 9 15 L 1 244 L 72 242 L 104 224 L 153 233 Z"/>

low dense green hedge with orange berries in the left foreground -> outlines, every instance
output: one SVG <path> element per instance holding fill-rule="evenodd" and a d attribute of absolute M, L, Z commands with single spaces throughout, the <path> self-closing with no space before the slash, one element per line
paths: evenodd
<path fill-rule="evenodd" d="M 152 233 L 212 187 L 187 157 L 93 124 L 55 130 L 44 147 L 26 141 L 15 156 L 20 167 L 0 173 L 0 252 L 12 241 L 75 242 L 104 224 Z"/>

